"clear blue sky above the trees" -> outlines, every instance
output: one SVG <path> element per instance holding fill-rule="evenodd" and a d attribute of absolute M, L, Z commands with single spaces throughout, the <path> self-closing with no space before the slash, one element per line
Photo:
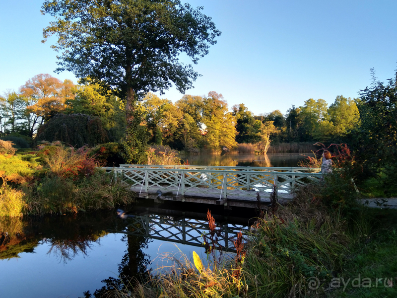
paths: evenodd
<path fill-rule="evenodd" d="M 57 53 L 42 29 L 42 0 L 0 0 L 0 94 L 18 91 L 36 74 L 55 74 Z M 329 104 L 358 97 L 371 84 L 370 69 L 386 81 L 397 69 L 396 0 L 189 0 L 203 6 L 222 35 L 194 65 L 201 76 L 186 94 L 222 93 L 231 108 L 244 103 L 255 115 L 309 98 Z M 181 58 L 185 63 L 191 63 Z M 171 88 L 172 101 L 183 94 Z"/>

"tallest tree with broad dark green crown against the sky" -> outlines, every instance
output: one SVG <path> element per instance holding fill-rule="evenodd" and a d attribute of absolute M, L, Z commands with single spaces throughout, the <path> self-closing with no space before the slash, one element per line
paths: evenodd
<path fill-rule="evenodd" d="M 126 98 L 127 118 L 134 102 L 172 82 L 185 92 L 198 77 L 181 53 L 197 63 L 220 31 L 211 18 L 179 0 L 46 0 L 42 13 L 57 19 L 43 30 L 55 34 L 61 52 L 57 72 L 106 83 Z"/>

